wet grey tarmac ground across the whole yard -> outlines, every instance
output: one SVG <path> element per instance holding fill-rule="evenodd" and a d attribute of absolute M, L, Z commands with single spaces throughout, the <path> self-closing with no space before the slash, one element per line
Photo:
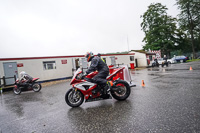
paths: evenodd
<path fill-rule="evenodd" d="M 5 92 L 0 95 L 0 133 L 200 133 L 200 62 L 130 72 L 137 86 L 121 102 L 71 108 L 64 100 L 69 82 L 38 93 Z"/>

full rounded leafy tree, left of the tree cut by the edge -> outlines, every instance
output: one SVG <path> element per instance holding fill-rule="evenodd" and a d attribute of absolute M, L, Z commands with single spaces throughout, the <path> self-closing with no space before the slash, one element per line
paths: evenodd
<path fill-rule="evenodd" d="M 141 27 L 145 33 L 143 48 L 161 50 L 163 54 L 170 56 L 170 51 L 178 45 L 181 34 L 176 27 L 176 18 L 168 16 L 166 11 L 167 7 L 161 3 L 151 4 L 141 16 Z"/>

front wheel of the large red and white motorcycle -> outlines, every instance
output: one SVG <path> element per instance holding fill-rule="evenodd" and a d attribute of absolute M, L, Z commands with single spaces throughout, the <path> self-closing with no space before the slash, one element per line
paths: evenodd
<path fill-rule="evenodd" d="M 71 88 L 65 94 L 65 101 L 71 107 L 79 107 L 84 101 L 84 95 L 81 91 Z"/>

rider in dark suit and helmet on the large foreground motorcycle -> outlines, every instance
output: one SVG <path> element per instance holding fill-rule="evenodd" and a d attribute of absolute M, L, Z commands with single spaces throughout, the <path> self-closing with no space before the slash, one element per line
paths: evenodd
<path fill-rule="evenodd" d="M 94 56 L 92 52 L 87 52 L 85 57 L 87 58 L 88 62 L 91 61 L 91 65 L 84 76 L 97 70 L 98 74 L 93 78 L 93 82 L 97 83 L 98 85 L 103 85 L 104 95 L 106 95 L 107 90 L 113 85 L 111 81 L 106 80 L 106 77 L 109 75 L 108 66 L 100 57 Z"/>

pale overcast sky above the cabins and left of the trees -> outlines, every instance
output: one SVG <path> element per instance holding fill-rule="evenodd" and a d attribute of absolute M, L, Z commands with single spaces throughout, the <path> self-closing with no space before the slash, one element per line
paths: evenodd
<path fill-rule="evenodd" d="M 179 13 L 175 0 L 0 0 L 0 58 L 139 50 L 140 16 L 157 2 Z"/>

